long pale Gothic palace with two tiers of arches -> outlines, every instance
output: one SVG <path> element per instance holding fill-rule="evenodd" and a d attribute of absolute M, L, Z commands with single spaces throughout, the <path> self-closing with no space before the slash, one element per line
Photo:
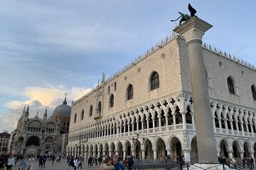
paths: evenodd
<path fill-rule="evenodd" d="M 256 74 L 251 64 L 203 43 L 218 156 L 255 158 Z M 67 152 L 198 161 L 185 40 L 173 33 L 72 106 Z"/>

